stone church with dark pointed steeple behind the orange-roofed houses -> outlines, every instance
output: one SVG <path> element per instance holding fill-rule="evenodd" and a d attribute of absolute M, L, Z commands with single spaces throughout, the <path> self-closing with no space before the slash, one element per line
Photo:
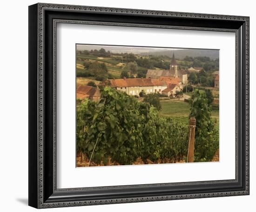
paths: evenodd
<path fill-rule="evenodd" d="M 179 78 L 182 84 L 188 83 L 188 74 L 185 70 L 178 69 L 178 64 L 176 62 L 174 53 L 169 70 L 148 69 L 146 77 L 151 79 L 159 79 L 161 77 L 174 77 Z"/>

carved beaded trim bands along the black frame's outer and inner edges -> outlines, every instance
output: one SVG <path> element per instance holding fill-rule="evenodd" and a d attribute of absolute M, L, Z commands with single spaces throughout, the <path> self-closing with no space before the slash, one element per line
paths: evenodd
<path fill-rule="evenodd" d="M 57 5 L 57 4 L 44 4 L 39 3 L 38 5 L 38 19 L 37 19 L 37 33 L 38 33 L 38 208 L 49 208 L 49 207 L 66 207 L 66 206 L 85 206 L 85 205 L 100 205 L 100 204 L 113 204 L 113 203 L 128 203 L 128 202 L 142 202 L 142 201 L 158 201 L 158 200 L 171 200 L 171 199 L 193 199 L 193 198 L 205 198 L 205 197 L 221 197 L 221 196 L 234 196 L 234 195 L 246 195 L 249 194 L 249 17 L 241 16 L 229 16 L 229 15 L 215 15 L 215 14 L 198 14 L 198 13 L 178 13 L 178 12 L 166 12 L 166 11 L 149 11 L 149 10 L 138 10 L 138 9 L 122 9 L 122 8 L 106 8 L 106 7 L 92 7 L 92 6 L 71 6 L 71 5 Z M 44 148 L 43 148 L 43 117 L 44 117 L 44 75 L 43 75 L 43 64 L 44 64 L 44 10 L 64 10 L 67 12 L 72 11 L 95 11 L 98 13 L 125 13 L 125 14 L 146 14 L 146 15 L 157 15 L 157 16 L 168 16 L 168 17 L 192 17 L 195 19 L 226 19 L 226 20 L 239 20 L 245 22 L 246 27 L 246 60 L 245 60 L 245 99 L 246 99 L 246 146 L 245 146 L 245 158 L 246 158 L 246 186 L 244 191 L 234 191 L 234 192 L 217 192 L 217 193 L 193 193 L 193 194 L 182 194 L 182 195 L 166 195 L 166 196 L 154 196 L 154 197 L 139 197 L 139 198 L 118 198 L 118 199 L 103 199 L 103 200 L 86 200 L 86 201 L 67 201 L 67 202 L 54 202 L 46 203 L 44 201 L 43 192 L 44 192 L 44 173 L 43 173 L 43 157 L 44 157 Z M 139 26 L 139 27 L 152 27 L 152 28 L 171 28 L 171 29 L 191 29 L 191 30 L 209 30 L 209 31 L 222 31 L 222 32 L 235 32 L 236 33 L 236 51 L 238 45 L 237 39 L 237 30 L 229 29 L 213 29 L 213 28 L 199 28 L 199 27 L 182 27 L 182 26 L 157 26 L 157 25 L 138 25 L 138 24 L 124 24 L 124 23 L 113 23 L 113 22 L 94 22 L 94 21 L 76 21 L 76 20 L 54 20 L 54 45 L 56 45 L 56 24 L 57 23 L 72 23 L 72 24 L 94 24 L 94 25 L 108 25 L 108 26 Z M 54 111 L 56 110 L 56 48 L 54 47 Z M 237 53 L 236 53 L 236 91 L 237 91 Z M 237 92 L 236 92 L 236 129 L 237 129 Z M 89 187 L 89 188 L 67 188 L 67 189 L 56 189 L 56 114 L 54 112 L 54 192 L 61 193 L 71 192 L 71 191 L 81 191 L 81 190 L 92 190 L 92 189 L 104 189 L 105 187 Z M 237 134 L 237 130 L 236 130 Z M 236 180 L 237 180 L 237 135 L 236 135 Z M 207 182 L 188 182 L 188 183 L 170 183 L 170 184 L 148 184 L 148 185 L 135 185 L 135 186 L 108 186 L 107 188 L 118 187 L 147 187 L 147 186 L 162 186 L 162 185 L 179 185 L 179 184 L 202 184 L 202 183 L 222 183 L 222 182 L 231 182 L 236 180 L 218 180 L 218 181 L 207 181 Z"/>

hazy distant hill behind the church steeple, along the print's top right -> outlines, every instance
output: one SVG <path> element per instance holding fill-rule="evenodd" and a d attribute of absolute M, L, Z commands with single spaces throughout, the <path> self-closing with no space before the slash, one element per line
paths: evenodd
<path fill-rule="evenodd" d="M 188 57 L 209 57 L 210 59 L 219 58 L 219 50 L 208 50 L 208 49 L 180 49 L 180 50 L 164 50 L 164 51 L 149 51 L 143 52 L 140 55 L 155 55 L 155 56 L 168 56 L 172 57 L 173 52 L 175 54 L 175 58 L 184 59 L 186 56 Z"/>

